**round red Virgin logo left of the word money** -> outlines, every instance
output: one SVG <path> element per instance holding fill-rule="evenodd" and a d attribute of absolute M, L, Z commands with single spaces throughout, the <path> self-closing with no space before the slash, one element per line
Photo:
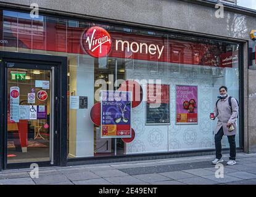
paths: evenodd
<path fill-rule="evenodd" d="M 109 33 L 99 26 L 93 26 L 84 31 L 81 42 L 83 49 L 96 58 L 106 57 L 112 46 Z"/>

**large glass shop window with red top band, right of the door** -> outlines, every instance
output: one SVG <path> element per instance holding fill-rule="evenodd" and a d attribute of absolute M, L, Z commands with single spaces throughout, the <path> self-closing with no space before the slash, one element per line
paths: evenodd
<path fill-rule="evenodd" d="M 69 158 L 212 149 L 218 88 L 239 100 L 236 43 L 19 12 L 2 18 L 1 50 L 68 57 Z M 133 100 L 104 100 L 113 91 Z"/>

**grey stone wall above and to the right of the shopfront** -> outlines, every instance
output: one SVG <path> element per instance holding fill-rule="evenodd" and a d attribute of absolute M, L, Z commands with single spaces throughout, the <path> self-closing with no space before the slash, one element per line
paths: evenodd
<path fill-rule="evenodd" d="M 224 10 L 224 18 L 216 18 L 217 9 L 177 0 L 0 0 L 10 4 L 59 10 L 102 19 L 151 25 L 170 30 L 239 39 L 244 42 L 244 149 L 256 152 L 256 70 L 248 70 L 247 42 L 250 30 L 256 28 L 255 17 Z M 18 6 L 19 7 L 19 6 Z M 68 13 L 67 13 L 68 12 Z"/>

